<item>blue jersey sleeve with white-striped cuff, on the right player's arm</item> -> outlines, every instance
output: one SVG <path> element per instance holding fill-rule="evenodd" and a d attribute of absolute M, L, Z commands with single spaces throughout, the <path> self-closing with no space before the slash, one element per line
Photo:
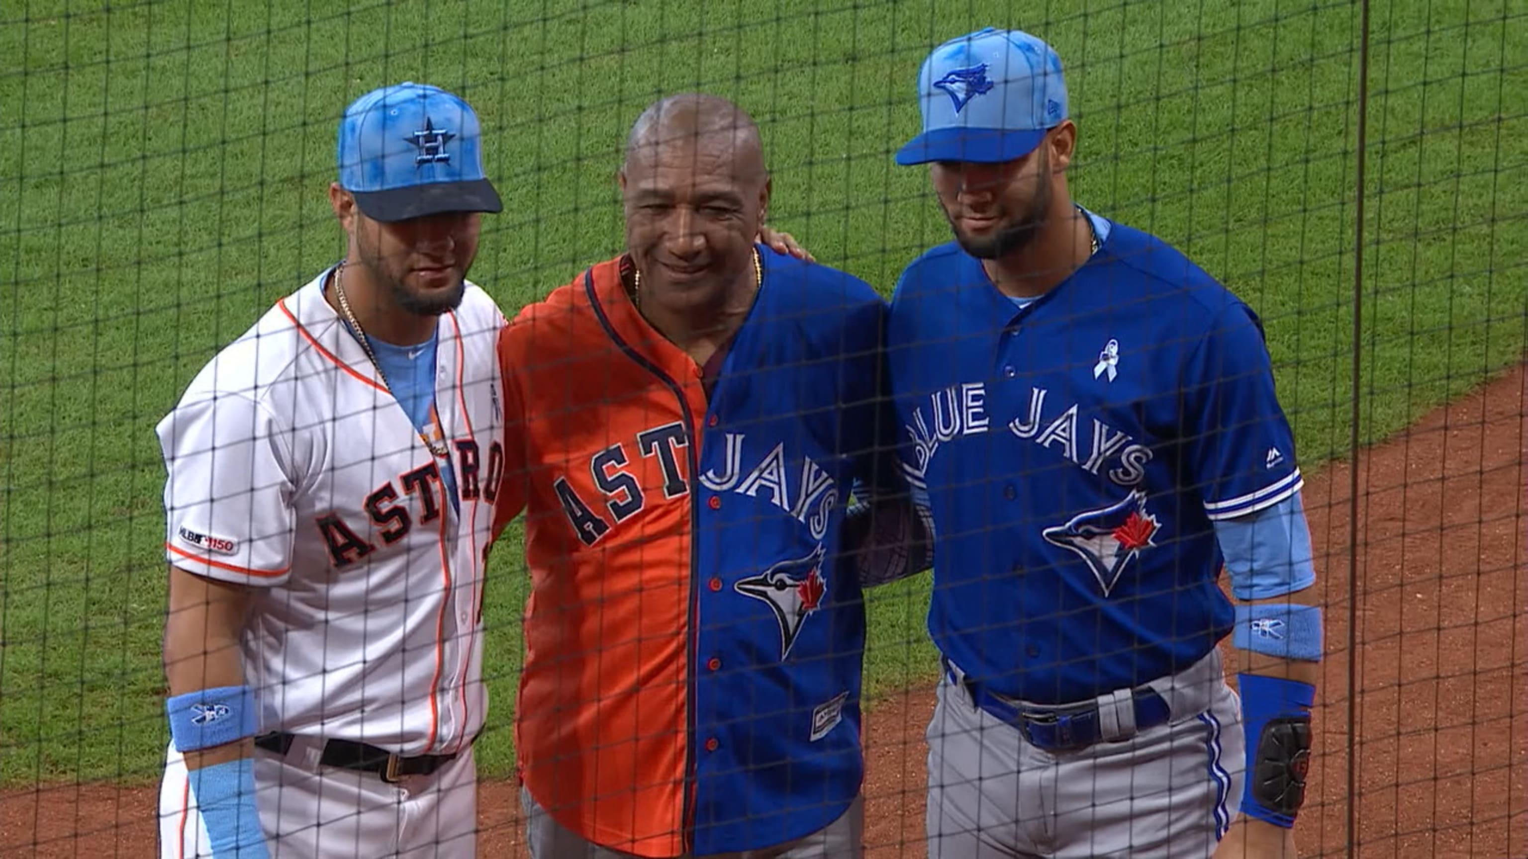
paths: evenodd
<path fill-rule="evenodd" d="M 1183 384 L 1186 465 L 1210 520 L 1245 517 L 1299 492 L 1294 437 L 1250 307 L 1238 301 L 1216 315 Z"/>

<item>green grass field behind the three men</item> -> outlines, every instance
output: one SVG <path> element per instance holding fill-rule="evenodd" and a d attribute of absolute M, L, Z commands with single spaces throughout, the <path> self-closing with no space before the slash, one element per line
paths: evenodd
<path fill-rule="evenodd" d="M 762 125 L 772 222 L 889 292 L 947 235 L 926 173 L 891 160 L 917 127 L 918 63 L 979 26 L 1028 29 L 1068 66 L 1079 202 L 1177 243 L 1248 300 L 1306 469 L 1348 449 L 1348 3 L 87 6 L 0 6 L 0 784 L 157 775 L 153 425 L 222 344 L 338 258 L 335 124 L 384 83 L 437 83 L 478 109 L 506 211 L 472 278 L 506 312 L 619 249 L 625 130 L 688 89 Z M 1374 3 L 1366 440 L 1523 355 L 1525 23 L 1525 0 Z M 510 541 L 492 567 L 484 775 L 512 761 L 518 555 Z M 931 674 L 926 588 L 874 596 L 872 691 Z"/>

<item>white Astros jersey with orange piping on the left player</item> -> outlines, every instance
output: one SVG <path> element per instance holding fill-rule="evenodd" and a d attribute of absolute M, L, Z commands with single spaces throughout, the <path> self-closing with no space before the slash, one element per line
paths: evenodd
<path fill-rule="evenodd" d="M 223 348 L 159 423 L 167 558 L 260 588 L 243 657 L 261 732 L 452 754 L 486 706 L 480 605 L 503 472 L 504 318 L 469 283 L 439 321 L 445 463 L 324 301 L 327 277 Z"/>

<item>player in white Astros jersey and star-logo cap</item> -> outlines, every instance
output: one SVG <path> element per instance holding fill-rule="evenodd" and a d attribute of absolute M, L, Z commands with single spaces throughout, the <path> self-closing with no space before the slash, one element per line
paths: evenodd
<path fill-rule="evenodd" d="M 356 99 L 344 261 L 223 348 L 157 426 L 171 744 L 160 854 L 475 856 L 495 342 L 466 281 L 484 179 L 460 98 Z"/>

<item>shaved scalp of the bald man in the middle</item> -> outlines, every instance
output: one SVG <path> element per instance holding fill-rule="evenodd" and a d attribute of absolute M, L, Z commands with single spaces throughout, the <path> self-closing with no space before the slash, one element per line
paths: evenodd
<path fill-rule="evenodd" d="M 623 170 L 685 153 L 730 159 L 740 180 L 766 177 L 759 127 L 746 110 L 718 95 L 680 93 L 648 105 L 626 136 Z"/>

